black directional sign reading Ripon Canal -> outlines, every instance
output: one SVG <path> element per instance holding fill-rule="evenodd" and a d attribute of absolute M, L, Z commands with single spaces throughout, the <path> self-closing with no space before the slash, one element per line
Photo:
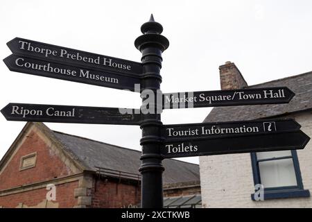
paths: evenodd
<path fill-rule="evenodd" d="M 10 121 L 117 125 L 139 125 L 141 122 L 140 110 L 135 109 L 9 103 L 1 112 Z"/>

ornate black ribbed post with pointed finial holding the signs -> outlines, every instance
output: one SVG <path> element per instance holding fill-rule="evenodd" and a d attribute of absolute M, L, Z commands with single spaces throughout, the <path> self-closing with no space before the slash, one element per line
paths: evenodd
<path fill-rule="evenodd" d="M 160 153 L 160 128 L 162 126 L 162 104 L 157 103 L 157 96 L 162 96 L 160 69 L 162 68 L 162 52 L 168 48 L 166 37 L 160 35 L 162 25 L 155 22 L 153 15 L 149 22 L 141 26 L 143 35 L 137 37 L 135 46 L 142 53 L 144 78 L 141 81 L 141 98 L 143 121 L 141 122 L 142 155 L 141 155 L 141 207 L 163 207 L 162 190 L 162 155 Z M 161 97 L 159 97 L 161 98 Z"/>

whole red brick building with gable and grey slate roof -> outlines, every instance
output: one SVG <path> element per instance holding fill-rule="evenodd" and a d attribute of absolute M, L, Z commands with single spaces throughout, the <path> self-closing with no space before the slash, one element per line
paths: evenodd
<path fill-rule="evenodd" d="M 0 207 L 138 205 L 140 155 L 29 122 L 0 162 Z M 163 164 L 164 196 L 200 194 L 197 164 L 178 160 Z"/>

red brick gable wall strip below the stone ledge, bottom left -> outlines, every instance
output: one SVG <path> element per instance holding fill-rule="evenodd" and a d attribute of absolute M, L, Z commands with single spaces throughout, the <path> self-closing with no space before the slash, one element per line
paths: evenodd
<path fill-rule="evenodd" d="M 77 198 L 73 196 L 76 187 L 78 187 L 78 181 L 56 185 L 56 199 L 52 200 L 53 204 L 50 206 L 68 208 L 77 205 Z M 41 188 L 0 196 L 0 206 L 14 208 L 21 207 L 22 203 L 22 207 L 44 207 L 48 191 L 46 188 Z"/>

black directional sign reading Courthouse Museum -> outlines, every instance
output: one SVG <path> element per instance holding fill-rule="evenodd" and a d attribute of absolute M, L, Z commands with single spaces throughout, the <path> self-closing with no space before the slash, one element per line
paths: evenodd
<path fill-rule="evenodd" d="M 129 89 L 135 91 L 135 84 L 141 79 L 129 74 L 113 73 L 112 71 L 98 71 L 95 69 L 64 65 L 57 62 L 37 60 L 24 56 L 8 56 L 3 60 L 10 71 L 17 71 L 35 76 L 58 78 L 78 83 L 100 85 L 114 89 Z M 139 89 L 137 90 L 139 92 Z"/>

